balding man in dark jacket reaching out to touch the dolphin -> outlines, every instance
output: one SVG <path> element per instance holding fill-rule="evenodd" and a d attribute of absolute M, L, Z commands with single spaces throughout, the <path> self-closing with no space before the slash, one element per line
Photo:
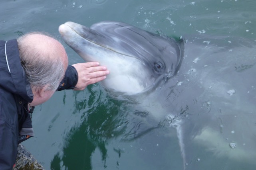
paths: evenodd
<path fill-rule="evenodd" d="M 18 143 L 34 136 L 34 106 L 56 90 L 83 90 L 107 74 L 97 62 L 68 66 L 61 43 L 43 33 L 0 41 L 0 170 L 12 169 Z"/>

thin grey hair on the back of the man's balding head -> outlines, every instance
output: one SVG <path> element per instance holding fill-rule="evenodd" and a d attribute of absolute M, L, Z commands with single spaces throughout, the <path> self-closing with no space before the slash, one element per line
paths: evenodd
<path fill-rule="evenodd" d="M 32 32 L 17 39 L 22 67 L 32 88 L 55 91 L 65 74 L 64 62 L 58 56 L 50 57 L 51 53 L 33 48 L 33 44 L 26 39 L 28 35 L 40 34 L 50 38 L 52 36 L 42 32 Z M 56 40 L 57 41 L 57 40 Z"/>

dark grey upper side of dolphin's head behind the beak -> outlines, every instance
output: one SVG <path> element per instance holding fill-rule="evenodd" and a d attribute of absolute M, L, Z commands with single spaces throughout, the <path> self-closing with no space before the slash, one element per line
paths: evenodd
<path fill-rule="evenodd" d="M 184 41 L 176 41 L 167 36 L 160 36 L 127 23 L 102 21 L 91 25 L 95 31 L 97 43 L 107 45 L 109 49 L 118 49 L 119 53 L 139 56 L 152 63 L 158 59 L 165 66 L 167 62 L 172 75 L 176 74 L 183 59 Z M 111 41 L 110 41 L 111 40 Z M 145 48 L 147 47 L 147 48 Z M 156 57 L 157 56 L 157 57 Z M 166 70 L 165 70 L 166 71 Z"/>

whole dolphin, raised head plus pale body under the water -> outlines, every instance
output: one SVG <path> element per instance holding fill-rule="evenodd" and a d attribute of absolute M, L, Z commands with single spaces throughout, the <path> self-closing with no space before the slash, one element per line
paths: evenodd
<path fill-rule="evenodd" d="M 60 25 L 59 31 L 64 41 L 85 61 L 98 61 L 107 66 L 110 74 L 101 82 L 106 89 L 129 96 L 136 101 L 137 105 L 132 106 L 135 110 L 149 112 L 156 122 L 167 120 L 175 127 L 184 169 L 204 167 L 196 163 L 198 150 L 195 146 L 198 145 L 216 158 L 228 158 L 235 164 L 246 161 L 255 166 L 256 152 L 250 152 L 256 149 L 256 127 L 252 121 L 256 117 L 252 102 L 255 98 L 237 91 L 246 91 L 256 84 L 246 79 L 248 86 L 244 86 L 237 79 L 255 72 L 256 68 L 254 64 L 248 67 L 242 64 L 238 74 L 230 67 L 244 62 L 238 55 L 244 51 L 244 45 L 234 43 L 236 49 L 231 51 L 229 47 L 209 45 L 211 41 L 226 41 L 226 37 L 198 38 L 203 48 L 195 43 L 184 45 L 183 39 L 176 41 L 113 21 L 99 22 L 90 28 L 67 22 Z M 246 50 L 243 55 L 254 53 L 253 48 L 246 47 Z M 224 63 L 222 66 L 220 61 Z M 234 93 L 236 95 L 231 97 Z M 237 111 L 244 115 L 238 116 Z M 242 128 L 236 127 L 239 123 Z M 244 130 L 246 125 L 250 131 Z M 232 149 L 234 145 L 237 147 Z M 212 161 L 205 160 L 205 163 Z M 214 165 L 215 169 L 223 166 L 221 163 Z"/>

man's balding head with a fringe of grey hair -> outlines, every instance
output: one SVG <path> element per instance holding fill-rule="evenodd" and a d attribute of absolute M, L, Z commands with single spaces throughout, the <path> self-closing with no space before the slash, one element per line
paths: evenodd
<path fill-rule="evenodd" d="M 17 39 L 22 66 L 31 84 L 36 106 L 46 102 L 57 90 L 67 69 L 67 54 L 56 39 L 41 32 Z"/>

